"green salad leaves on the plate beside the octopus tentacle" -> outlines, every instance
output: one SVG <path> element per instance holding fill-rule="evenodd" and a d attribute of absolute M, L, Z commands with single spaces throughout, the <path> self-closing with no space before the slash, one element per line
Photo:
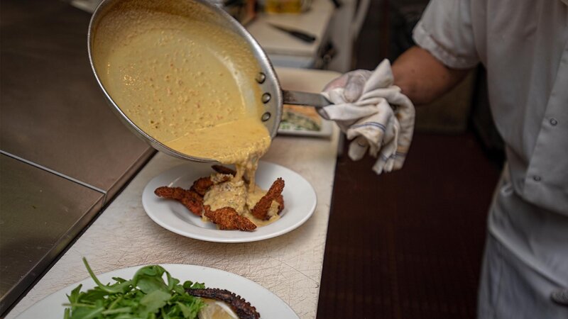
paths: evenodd
<path fill-rule="evenodd" d="M 87 259 L 83 262 L 97 286 L 81 291 L 79 285 L 67 295 L 65 319 L 194 319 L 205 306 L 201 298 L 185 293 L 185 289 L 205 288 L 204 284 L 180 284 L 163 267 L 142 267 L 130 280 L 114 277 L 114 284 L 104 285 Z"/>

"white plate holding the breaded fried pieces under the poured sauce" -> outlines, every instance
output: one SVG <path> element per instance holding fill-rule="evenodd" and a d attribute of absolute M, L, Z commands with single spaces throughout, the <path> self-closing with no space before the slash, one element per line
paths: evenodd
<path fill-rule="evenodd" d="M 154 177 L 142 194 L 142 204 L 148 216 L 173 233 L 209 242 L 253 242 L 283 235 L 299 227 L 312 216 L 316 195 L 312 185 L 296 172 L 278 164 L 260 162 L 256 171 L 256 184 L 268 189 L 273 181 L 282 177 L 285 182 L 284 210 L 280 219 L 270 225 L 258 227 L 252 232 L 218 230 L 214 223 L 205 223 L 178 201 L 160 198 L 154 190 L 160 186 L 189 189 L 193 181 L 209 176 L 211 164 L 190 162 L 174 167 Z"/>

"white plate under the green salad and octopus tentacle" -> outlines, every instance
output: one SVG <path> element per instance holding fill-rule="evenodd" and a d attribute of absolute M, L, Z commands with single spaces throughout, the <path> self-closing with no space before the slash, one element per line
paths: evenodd
<path fill-rule="evenodd" d="M 256 284 L 256 282 L 241 277 L 230 272 L 224 272 L 219 269 L 195 266 L 190 264 L 163 264 L 161 265 L 170 274 L 181 282 L 190 280 L 194 282 L 202 282 L 208 288 L 227 289 L 236 293 L 237 295 L 249 301 L 251 305 L 256 307 L 261 318 L 275 318 L 287 319 L 298 318 L 294 310 L 290 308 L 282 299 L 278 298 L 274 293 L 265 289 L 263 286 Z M 103 284 L 114 282 L 112 277 L 121 277 L 124 279 L 131 279 L 134 273 L 143 266 L 129 267 L 124 269 L 114 270 L 106 274 L 97 274 L 97 277 Z M 85 270 L 87 273 L 87 270 Z M 69 302 L 67 300 L 67 293 L 75 289 L 79 284 L 82 284 L 82 291 L 91 289 L 95 286 L 94 281 L 89 277 L 76 284 L 61 289 L 50 296 L 43 298 L 43 300 L 35 303 L 30 308 L 26 309 L 18 315 L 18 319 L 60 319 L 63 318 L 63 311 L 65 307 L 63 303 Z"/>

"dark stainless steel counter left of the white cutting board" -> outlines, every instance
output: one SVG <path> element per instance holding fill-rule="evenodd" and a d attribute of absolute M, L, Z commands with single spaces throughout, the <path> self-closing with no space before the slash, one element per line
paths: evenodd
<path fill-rule="evenodd" d="M 1 314 L 154 151 L 104 102 L 88 13 L 45 0 L 0 12 Z"/>

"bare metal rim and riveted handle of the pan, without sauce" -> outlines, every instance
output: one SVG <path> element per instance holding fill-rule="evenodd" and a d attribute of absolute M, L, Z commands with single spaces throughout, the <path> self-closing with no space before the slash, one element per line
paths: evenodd
<path fill-rule="evenodd" d="M 92 72 L 104 93 L 105 99 L 116 115 L 119 116 L 121 121 L 123 121 L 124 124 L 133 131 L 133 133 L 148 142 L 156 150 L 182 159 L 190 159 L 197 162 L 215 162 L 214 159 L 194 157 L 190 154 L 178 152 L 177 150 L 174 150 L 153 138 L 136 125 L 136 123 L 131 121 L 128 116 L 126 116 L 124 110 L 121 109 L 121 106 L 117 105 L 113 96 L 109 94 L 109 87 L 105 86 L 104 81 L 101 80 L 104 68 L 100 65 L 100 63 L 97 63 L 97 55 L 101 55 L 96 47 L 97 43 L 100 43 L 100 41 L 97 41 L 97 37 L 104 37 L 107 36 L 104 34 L 109 33 L 108 30 L 104 32 L 101 31 L 101 29 L 104 29 L 102 27 L 104 27 L 105 23 L 107 23 L 107 16 L 112 14 L 116 16 L 116 14 L 120 14 L 121 11 L 126 12 L 132 9 L 136 9 L 138 12 L 158 11 L 160 13 L 182 16 L 182 18 L 187 19 L 200 19 L 207 23 L 214 23 L 216 26 L 232 33 L 235 37 L 241 38 L 246 47 L 249 47 L 249 52 L 253 55 L 253 59 L 258 62 L 258 72 L 255 70 L 255 74 L 251 74 L 253 79 L 249 79 L 249 81 L 246 81 L 243 85 L 256 86 L 254 88 L 251 87 L 250 89 L 259 90 L 261 92 L 260 94 L 257 94 L 258 98 L 261 99 L 261 103 L 263 103 L 261 121 L 263 121 L 263 124 L 268 129 L 271 138 L 274 138 L 278 131 L 278 125 L 283 113 L 283 104 L 315 107 L 327 106 L 330 104 L 330 102 L 320 94 L 300 91 L 285 91 L 281 89 L 278 77 L 276 77 L 273 65 L 268 59 L 266 52 L 263 51 L 261 46 L 258 45 L 256 40 L 243 26 L 241 26 L 238 21 L 232 18 L 219 6 L 215 6 L 214 4 L 210 4 L 203 0 L 104 0 L 94 11 L 89 23 L 88 51 Z M 143 18 L 143 16 L 140 18 Z"/>

